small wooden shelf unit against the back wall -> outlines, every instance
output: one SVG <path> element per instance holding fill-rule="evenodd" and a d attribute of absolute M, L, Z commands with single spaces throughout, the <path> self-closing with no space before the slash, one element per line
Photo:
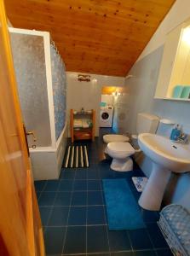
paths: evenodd
<path fill-rule="evenodd" d="M 74 119 L 90 119 L 92 127 L 74 127 Z M 92 140 L 95 141 L 95 110 L 89 111 L 74 111 L 71 109 L 70 112 L 71 121 L 71 137 L 72 143 L 75 140 Z"/>

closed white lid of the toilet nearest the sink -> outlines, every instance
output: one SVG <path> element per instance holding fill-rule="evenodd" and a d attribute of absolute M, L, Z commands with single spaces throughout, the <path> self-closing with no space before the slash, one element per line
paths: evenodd
<path fill-rule="evenodd" d="M 112 150 L 112 152 L 134 154 L 135 149 L 130 145 L 130 143 L 108 143 L 107 148 Z"/>

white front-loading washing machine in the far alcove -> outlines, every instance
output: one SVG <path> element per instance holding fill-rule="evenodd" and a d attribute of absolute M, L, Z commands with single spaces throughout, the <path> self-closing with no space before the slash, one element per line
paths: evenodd
<path fill-rule="evenodd" d="M 100 127 L 112 127 L 113 107 L 101 108 Z"/>

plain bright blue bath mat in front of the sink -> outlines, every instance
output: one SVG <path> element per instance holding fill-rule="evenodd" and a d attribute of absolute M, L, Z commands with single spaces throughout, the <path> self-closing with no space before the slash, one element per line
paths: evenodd
<path fill-rule="evenodd" d="M 137 230 L 146 228 L 138 206 L 124 178 L 103 179 L 109 230 Z"/>

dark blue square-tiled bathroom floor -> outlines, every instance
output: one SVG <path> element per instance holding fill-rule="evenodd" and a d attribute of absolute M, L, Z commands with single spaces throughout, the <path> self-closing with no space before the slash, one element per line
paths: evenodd
<path fill-rule="evenodd" d="M 85 144 L 89 168 L 62 169 L 59 180 L 35 182 L 47 255 L 172 255 L 156 223 L 158 212 L 141 209 L 145 230 L 108 230 L 101 179 L 126 178 L 138 201 L 131 177 L 143 173 L 135 163 L 133 172 L 113 172 L 101 137 Z"/>

